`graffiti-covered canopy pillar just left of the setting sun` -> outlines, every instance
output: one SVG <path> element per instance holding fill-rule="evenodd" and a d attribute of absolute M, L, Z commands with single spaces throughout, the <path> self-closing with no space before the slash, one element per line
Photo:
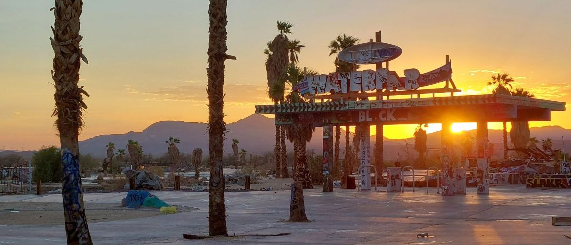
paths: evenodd
<path fill-rule="evenodd" d="M 452 123 L 443 122 L 441 131 L 442 151 L 440 160 L 442 161 L 442 195 L 451 196 L 455 193 L 456 178 L 452 172 L 452 152 L 453 152 L 453 135 Z"/>

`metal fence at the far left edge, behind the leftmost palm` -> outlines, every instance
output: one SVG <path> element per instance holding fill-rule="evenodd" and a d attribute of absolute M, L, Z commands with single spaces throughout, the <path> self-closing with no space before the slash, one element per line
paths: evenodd
<path fill-rule="evenodd" d="M 0 166 L 0 195 L 28 194 L 31 182 L 30 170 L 26 161 L 10 167 Z"/>

